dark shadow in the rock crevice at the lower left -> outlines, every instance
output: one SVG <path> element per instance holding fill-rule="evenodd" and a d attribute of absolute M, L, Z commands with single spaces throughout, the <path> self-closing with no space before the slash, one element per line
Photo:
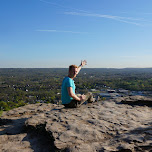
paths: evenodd
<path fill-rule="evenodd" d="M 0 142 L 6 143 L 7 141 L 13 145 L 13 143 L 16 144 L 18 138 L 22 136 L 23 138 L 21 139 L 20 143 L 23 145 L 23 147 L 30 147 L 34 152 L 54 152 L 54 141 L 48 132 L 45 131 L 45 125 L 40 125 L 36 129 L 32 127 L 27 128 L 25 126 L 25 121 L 27 119 L 28 118 L 0 119 L 0 135 L 5 135 L 6 138 L 5 140 L 0 139 L 2 140 Z M 29 146 L 26 146 L 26 143 L 29 143 Z M 8 147 L 6 149 L 11 150 L 12 148 Z"/>

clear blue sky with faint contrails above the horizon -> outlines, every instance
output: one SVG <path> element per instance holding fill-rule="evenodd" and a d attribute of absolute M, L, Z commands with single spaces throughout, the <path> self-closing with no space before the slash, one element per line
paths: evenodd
<path fill-rule="evenodd" d="M 0 68 L 152 67 L 152 0 L 0 0 Z"/>

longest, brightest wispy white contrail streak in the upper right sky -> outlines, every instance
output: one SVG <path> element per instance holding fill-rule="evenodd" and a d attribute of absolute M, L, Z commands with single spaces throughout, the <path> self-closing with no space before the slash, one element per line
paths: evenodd
<path fill-rule="evenodd" d="M 140 18 L 121 17 L 121 16 L 95 14 L 95 13 L 65 12 L 65 14 L 67 14 L 67 15 L 79 15 L 79 16 L 106 18 L 106 19 L 117 20 L 117 21 L 120 21 L 120 22 L 128 23 L 128 24 L 135 24 L 135 25 L 138 25 L 138 26 L 140 26 L 142 24 L 138 23 L 137 21 L 143 21 L 143 19 L 140 19 Z"/>

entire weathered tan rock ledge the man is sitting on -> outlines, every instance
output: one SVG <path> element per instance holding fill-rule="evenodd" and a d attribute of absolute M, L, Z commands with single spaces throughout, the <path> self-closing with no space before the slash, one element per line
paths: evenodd
<path fill-rule="evenodd" d="M 118 98 L 76 109 L 32 104 L 8 111 L 0 119 L 0 149 L 152 152 L 152 108 L 139 101 L 149 106 L 152 99 Z"/>

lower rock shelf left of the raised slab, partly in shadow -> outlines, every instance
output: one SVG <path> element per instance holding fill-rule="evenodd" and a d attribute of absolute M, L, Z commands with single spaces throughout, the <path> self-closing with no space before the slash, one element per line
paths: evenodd
<path fill-rule="evenodd" d="M 31 116 L 54 109 L 53 104 L 30 104 L 4 112 L 0 118 L 0 151 L 50 152 L 52 140 L 45 128 L 27 130 L 25 121 Z M 54 149 L 54 148 L 53 148 Z"/>

